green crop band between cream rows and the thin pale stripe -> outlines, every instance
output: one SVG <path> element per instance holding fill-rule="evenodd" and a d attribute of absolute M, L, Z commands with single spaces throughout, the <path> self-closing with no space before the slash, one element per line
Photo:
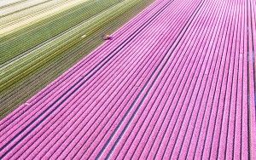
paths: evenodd
<path fill-rule="evenodd" d="M 0 37 L 0 65 L 49 38 L 55 37 L 79 23 L 83 23 L 84 20 L 86 21 L 92 16 L 102 13 L 102 11 L 119 2 L 120 0 L 89 0 L 24 29 Z"/>

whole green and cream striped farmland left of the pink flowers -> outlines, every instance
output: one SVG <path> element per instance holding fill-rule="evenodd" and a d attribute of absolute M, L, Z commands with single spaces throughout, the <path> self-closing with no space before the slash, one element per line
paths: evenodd
<path fill-rule="evenodd" d="M 0 20 L 4 21 L 0 26 L 0 118 L 67 71 L 103 42 L 102 35 L 111 34 L 153 0 L 36 2 L 15 3 L 8 7 L 15 12 L 3 13 Z"/>

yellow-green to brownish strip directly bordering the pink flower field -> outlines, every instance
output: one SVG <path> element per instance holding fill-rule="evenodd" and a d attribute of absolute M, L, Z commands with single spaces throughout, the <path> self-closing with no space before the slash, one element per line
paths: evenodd
<path fill-rule="evenodd" d="M 86 20 L 71 32 L 38 49 L 34 53 L 36 56 L 28 54 L 28 57 L 4 67 L 4 73 L 8 74 L 1 77 L 9 77 L 9 74 L 16 76 L 5 78 L 7 79 L 5 81 L 1 80 L 0 119 L 100 45 L 103 33 L 111 34 L 116 31 L 153 1 L 129 0 L 114 5 L 113 8 Z M 85 34 L 86 37 L 81 38 Z M 47 55 L 44 56 L 44 54 Z M 12 70 L 9 71 L 9 69 Z"/>

